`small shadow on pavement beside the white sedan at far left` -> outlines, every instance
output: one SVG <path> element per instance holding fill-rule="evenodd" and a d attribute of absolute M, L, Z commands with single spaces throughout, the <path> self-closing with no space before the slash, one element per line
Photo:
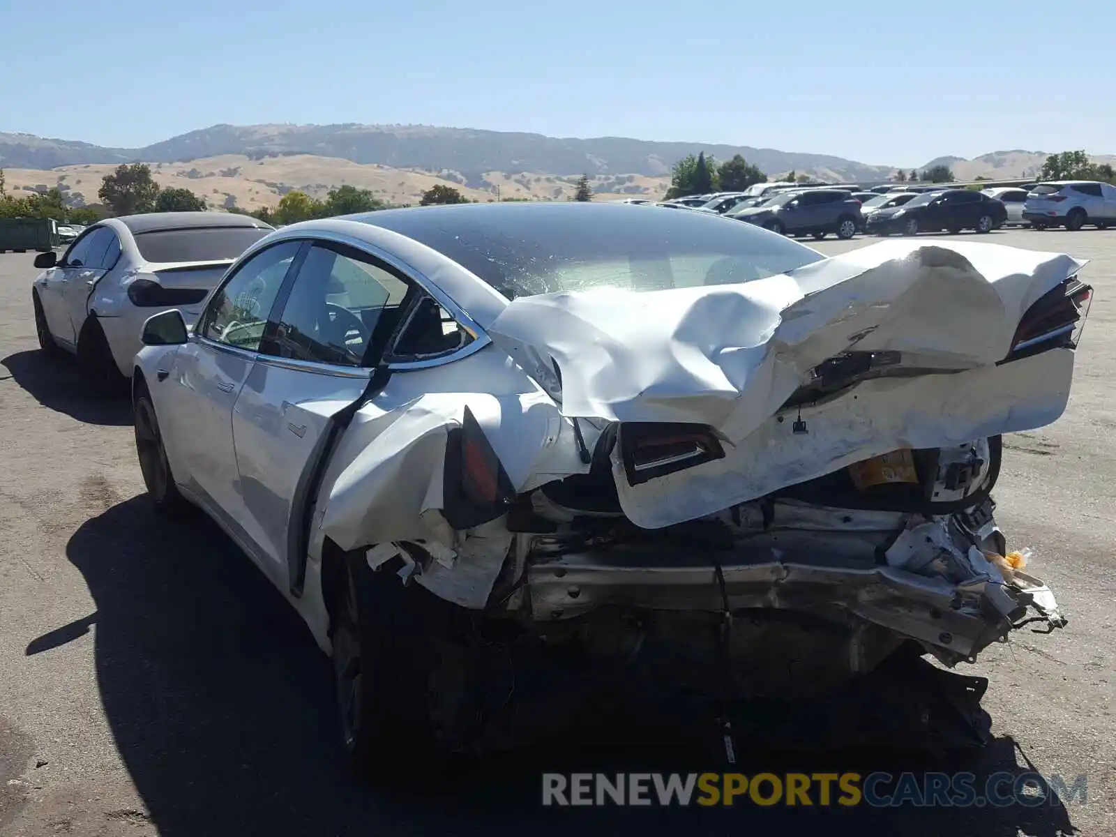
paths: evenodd
<path fill-rule="evenodd" d="M 0 360 L 17 384 L 48 410 L 86 424 L 124 426 L 132 424 L 127 396 L 98 396 L 81 381 L 71 357 L 48 357 L 38 349 L 17 352 Z"/>

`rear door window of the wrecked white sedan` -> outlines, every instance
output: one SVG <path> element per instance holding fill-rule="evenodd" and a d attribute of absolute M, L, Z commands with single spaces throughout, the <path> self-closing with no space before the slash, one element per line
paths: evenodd
<path fill-rule="evenodd" d="M 371 366 L 398 325 L 411 287 L 369 256 L 316 243 L 262 350 L 296 360 Z"/>

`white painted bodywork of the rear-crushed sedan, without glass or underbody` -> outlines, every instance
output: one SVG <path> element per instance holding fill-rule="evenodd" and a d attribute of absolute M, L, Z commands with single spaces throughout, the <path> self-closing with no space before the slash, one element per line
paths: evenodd
<path fill-rule="evenodd" d="M 326 651 L 327 537 L 345 550 L 369 548 L 371 564 L 406 555 L 403 541 L 424 543 L 436 560 L 420 584 L 470 608 L 488 599 L 512 536 L 500 519 L 454 531 L 441 513 L 446 440 L 466 407 L 518 492 L 586 473 L 578 439 L 591 449 L 609 422 L 712 425 L 729 443 L 723 460 L 636 487 L 614 461 L 624 512 L 660 528 L 896 448 L 1055 421 L 1072 352 L 998 362 L 1029 306 L 1086 263 L 994 244 L 885 241 L 743 285 L 509 304 L 445 256 L 344 219 L 286 228 L 242 258 L 308 234 L 421 278 L 487 334 L 451 363 L 398 365 L 366 403 L 367 371 L 337 377 L 214 349 L 195 335 L 184 346 L 145 347 L 136 363 L 147 381 L 162 382 L 151 392 L 177 482 L 261 565 Z M 943 374 L 863 382 L 804 407 L 808 430 L 793 433 L 797 411 L 783 415 L 782 405 L 810 369 L 850 349 L 902 352 Z M 561 372 L 560 403 L 551 359 Z M 326 454 L 316 497 L 300 498 L 330 420 L 357 404 Z M 308 555 L 291 555 L 290 518 L 311 501 Z M 292 567 L 304 560 L 299 595 Z"/>

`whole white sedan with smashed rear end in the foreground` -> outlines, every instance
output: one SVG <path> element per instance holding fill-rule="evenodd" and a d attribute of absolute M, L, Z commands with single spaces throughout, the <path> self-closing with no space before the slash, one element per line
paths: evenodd
<path fill-rule="evenodd" d="M 1065 410 L 1084 264 L 612 204 L 308 221 L 147 320 L 140 463 L 298 609 L 364 764 L 510 740 L 574 663 L 727 719 L 1062 624 L 991 492 Z"/>

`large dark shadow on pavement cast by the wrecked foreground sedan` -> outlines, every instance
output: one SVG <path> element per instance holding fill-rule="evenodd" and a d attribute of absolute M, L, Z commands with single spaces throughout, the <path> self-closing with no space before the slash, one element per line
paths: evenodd
<path fill-rule="evenodd" d="M 739 833 L 1074 834 L 1061 802 L 1007 808 L 552 808 L 541 773 L 724 770 L 695 753 L 646 747 L 598 749 L 571 740 L 558 750 L 493 757 L 458 782 L 417 772 L 391 791 L 363 786 L 339 758 L 329 665 L 295 610 L 215 526 L 157 518 L 145 497 L 80 526 L 67 545 L 96 602 L 102 702 L 124 763 L 158 833 L 179 835 L 454 834 L 585 835 Z M 88 626 L 61 626 L 31 641 L 49 653 Z M 654 744 L 653 731 L 644 741 Z M 839 764 L 837 762 L 840 762 Z M 869 763 L 870 762 L 870 763 Z M 734 768 L 894 770 L 873 754 L 780 756 L 747 751 Z M 944 769 L 944 768 L 937 768 Z M 1016 745 L 998 739 L 961 767 L 1019 775 Z M 780 829 L 780 830 L 777 830 Z M 866 829 L 872 829 L 866 830 Z"/>

